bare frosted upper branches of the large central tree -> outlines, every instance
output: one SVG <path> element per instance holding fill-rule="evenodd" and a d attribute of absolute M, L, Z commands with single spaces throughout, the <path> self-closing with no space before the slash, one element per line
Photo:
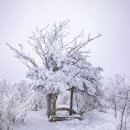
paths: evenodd
<path fill-rule="evenodd" d="M 68 34 L 65 30 L 68 27 L 68 23 L 69 20 L 65 20 L 60 22 L 59 25 L 54 24 L 50 29 L 48 29 L 48 25 L 43 29 L 36 27 L 36 32 L 33 32 L 33 36 L 29 37 L 29 40 L 27 41 L 31 46 L 33 53 L 40 58 L 43 66 L 47 69 L 50 68 L 50 64 L 48 62 L 50 62 L 49 58 L 52 47 L 59 49 L 59 51 L 63 51 L 63 53 L 67 53 L 67 55 L 71 57 L 76 52 L 88 53 L 80 51 L 80 49 L 87 45 L 90 41 L 101 36 L 101 34 L 99 34 L 94 38 L 90 38 L 89 34 L 86 42 L 78 42 L 79 39 L 84 36 L 82 31 L 72 41 L 65 44 L 63 40 Z M 38 64 L 34 61 L 34 59 L 25 54 L 22 44 L 19 44 L 19 50 L 15 49 L 8 43 L 7 45 L 16 54 L 16 57 L 21 59 L 21 62 L 23 62 L 28 68 L 31 67 L 30 64 L 34 67 L 38 67 Z M 76 63 L 78 63 L 78 60 L 74 64 Z"/>

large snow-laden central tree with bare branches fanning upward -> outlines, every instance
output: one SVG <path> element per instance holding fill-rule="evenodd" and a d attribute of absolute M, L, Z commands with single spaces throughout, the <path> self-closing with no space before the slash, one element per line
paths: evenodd
<path fill-rule="evenodd" d="M 65 42 L 68 22 L 65 20 L 51 28 L 36 28 L 36 32 L 27 42 L 38 59 L 26 54 L 22 44 L 19 44 L 18 50 L 7 43 L 16 57 L 28 67 L 27 77 L 34 81 L 36 88 L 48 93 L 48 102 L 51 102 L 51 98 L 54 99 L 52 106 L 48 104 L 52 109 L 55 108 L 55 94 L 60 91 L 74 88 L 75 92 L 83 92 L 97 99 L 101 85 L 102 69 L 92 66 L 87 60 L 88 51 L 85 49 L 88 43 L 101 34 L 93 38 L 89 34 L 87 40 L 81 40 L 81 33 L 73 40 Z"/>

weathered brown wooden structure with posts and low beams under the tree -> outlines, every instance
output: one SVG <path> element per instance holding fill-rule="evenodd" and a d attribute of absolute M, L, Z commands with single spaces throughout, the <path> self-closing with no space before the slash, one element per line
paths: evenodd
<path fill-rule="evenodd" d="M 57 94 L 47 94 L 47 115 L 48 119 L 51 122 L 63 121 L 63 120 L 71 120 L 71 119 L 79 119 L 81 120 L 81 116 L 77 115 L 77 113 L 73 110 L 73 95 L 74 95 L 74 87 L 68 89 L 70 91 L 70 108 L 61 107 L 56 108 L 56 100 Z M 56 112 L 58 111 L 67 111 L 69 112 L 69 116 L 57 116 Z"/>

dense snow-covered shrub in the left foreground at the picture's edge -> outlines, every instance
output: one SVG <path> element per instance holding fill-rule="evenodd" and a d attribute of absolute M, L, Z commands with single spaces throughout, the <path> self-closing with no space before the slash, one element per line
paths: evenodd
<path fill-rule="evenodd" d="M 33 89 L 25 81 L 10 85 L 0 82 L 0 124 L 3 129 L 24 123 L 26 111 L 33 103 Z"/>

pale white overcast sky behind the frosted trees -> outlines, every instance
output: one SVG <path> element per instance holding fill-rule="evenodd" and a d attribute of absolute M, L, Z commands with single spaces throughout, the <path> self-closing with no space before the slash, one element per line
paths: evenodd
<path fill-rule="evenodd" d="M 26 45 L 35 27 L 70 20 L 69 33 L 102 33 L 88 49 L 104 76 L 130 76 L 130 0 L 0 0 L 0 80 L 25 79 L 27 68 L 6 46 Z"/>

